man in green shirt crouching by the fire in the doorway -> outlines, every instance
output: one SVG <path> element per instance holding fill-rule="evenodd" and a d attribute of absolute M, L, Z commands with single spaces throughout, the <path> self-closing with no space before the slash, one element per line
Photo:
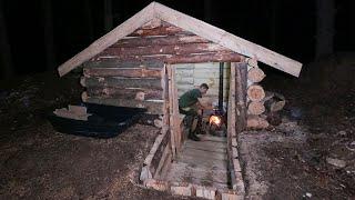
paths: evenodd
<path fill-rule="evenodd" d="M 183 93 L 179 99 L 179 111 L 182 114 L 186 114 L 186 120 L 189 122 L 189 139 L 194 141 L 200 141 L 201 139 L 196 136 L 197 129 L 202 119 L 202 109 L 210 109 L 209 106 L 203 103 L 202 96 L 209 90 L 206 83 L 202 83 L 200 88 L 192 89 Z"/>

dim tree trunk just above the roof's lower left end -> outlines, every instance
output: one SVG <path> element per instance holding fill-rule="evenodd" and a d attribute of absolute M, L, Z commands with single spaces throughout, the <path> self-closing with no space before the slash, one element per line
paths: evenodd
<path fill-rule="evenodd" d="M 45 66 L 48 70 L 55 69 L 55 52 L 53 38 L 53 18 L 52 3 L 48 0 L 42 0 L 43 12 L 43 31 L 44 31 L 44 50 L 45 50 Z"/>

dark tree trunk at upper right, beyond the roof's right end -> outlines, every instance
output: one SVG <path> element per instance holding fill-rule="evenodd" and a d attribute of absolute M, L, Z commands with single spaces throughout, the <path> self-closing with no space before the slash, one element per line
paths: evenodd
<path fill-rule="evenodd" d="M 316 0 L 316 47 L 315 57 L 329 56 L 334 50 L 334 0 Z"/>

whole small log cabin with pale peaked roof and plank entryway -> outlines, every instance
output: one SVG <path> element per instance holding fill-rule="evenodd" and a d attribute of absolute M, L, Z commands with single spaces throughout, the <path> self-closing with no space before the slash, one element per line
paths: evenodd
<path fill-rule="evenodd" d="M 62 77 L 83 69 L 84 102 L 145 108 L 162 119 L 142 166 L 142 184 L 174 194 L 237 199 L 245 189 L 236 134 L 268 126 L 261 117 L 268 97 L 257 62 L 294 77 L 302 69 L 295 60 L 152 2 L 58 71 Z M 202 82 L 209 83 L 213 101 L 222 96 L 227 123 L 226 137 L 204 136 L 199 143 L 186 140 L 178 99 Z"/>

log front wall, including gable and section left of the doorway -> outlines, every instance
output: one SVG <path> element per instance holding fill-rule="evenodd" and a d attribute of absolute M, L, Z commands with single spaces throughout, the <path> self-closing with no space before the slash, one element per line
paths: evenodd
<path fill-rule="evenodd" d="M 161 71 L 165 63 L 240 61 L 220 44 L 152 20 L 84 63 L 85 102 L 146 108 L 162 113 Z"/>

